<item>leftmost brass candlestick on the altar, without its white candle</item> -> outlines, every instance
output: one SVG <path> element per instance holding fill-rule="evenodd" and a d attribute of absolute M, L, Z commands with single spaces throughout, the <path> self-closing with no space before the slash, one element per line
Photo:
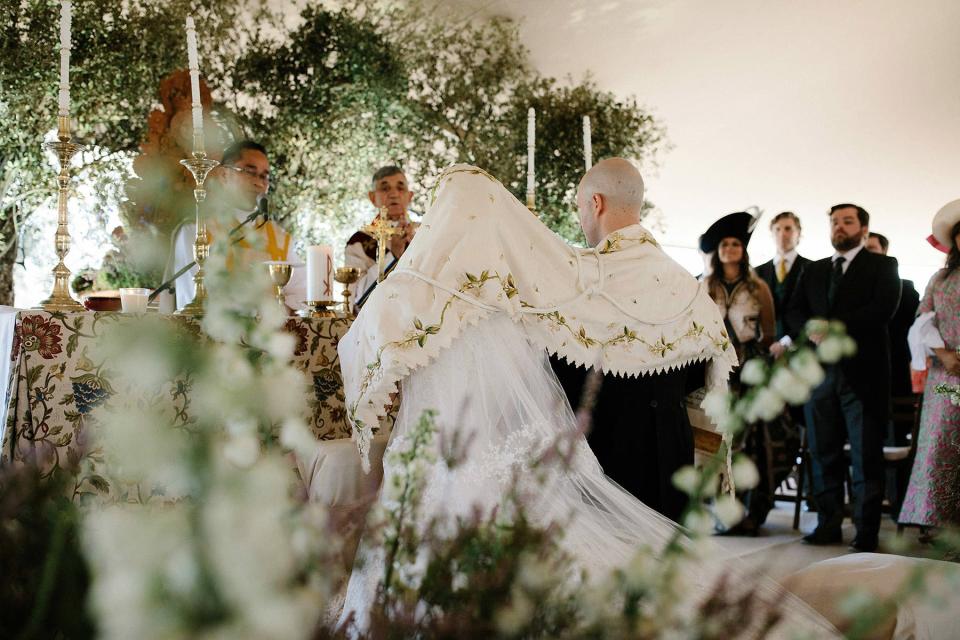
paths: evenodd
<path fill-rule="evenodd" d="M 40 303 L 38 309 L 44 311 L 79 312 L 86 309 L 70 295 L 70 269 L 63 263 L 70 253 L 70 232 L 67 229 L 67 201 L 70 198 L 70 161 L 83 145 L 73 142 L 70 134 L 70 116 L 57 118 L 57 141 L 44 146 L 57 154 L 60 162 L 60 174 L 57 176 L 59 193 L 57 194 L 57 233 L 54 236 L 57 266 L 53 268 L 53 293 Z"/>

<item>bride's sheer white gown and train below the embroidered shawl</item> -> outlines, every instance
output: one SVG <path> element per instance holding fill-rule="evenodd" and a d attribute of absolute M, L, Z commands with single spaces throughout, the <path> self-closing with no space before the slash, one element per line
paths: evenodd
<path fill-rule="evenodd" d="M 402 382 L 402 403 L 387 453 L 384 487 L 400 471 L 390 464 L 390 452 L 406 448 L 410 430 L 423 411 L 437 412 L 438 433 L 433 446 L 454 441 L 466 444 L 463 462 L 450 469 L 437 455 L 427 473 L 423 501 L 425 522 L 438 512 L 469 514 L 475 506 L 489 511 L 501 504 L 515 472 L 521 478 L 528 516 L 535 523 L 558 522 L 562 546 L 593 577 L 625 566 L 641 547 L 659 551 L 677 525 L 653 511 L 609 480 L 576 420 L 542 348 L 531 344 L 523 327 L 506 314 L 495 314 L 464 329 L 430 365 Z M 570 464 L 539 467 L 531 463 L 558 442 L 573 447 Z M 383 491 L 381 502 L 387 500 Z M 389 507 L 389 505 L 384 505 Z M 691 606 L 706 595 L 717 578 L 734 571 L 719 548 L 705 560 L 684 563 Z M 358 564 L 347 588 L 344 616 L 355 613 L 366 626 L 377 584 L 384 575 L 383 551 L 361 542 Z M 785 614 L 789 626 L 832 637 L 833 628 L 773 582 L 748 577 L 758 593 Z M 784 635 L 784 634 L 778 634 Z"/>

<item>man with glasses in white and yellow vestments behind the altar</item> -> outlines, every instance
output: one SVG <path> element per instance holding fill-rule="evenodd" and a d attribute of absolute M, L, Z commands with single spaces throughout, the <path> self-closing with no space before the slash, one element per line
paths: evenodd
<path fill-rule="evenodd" d="M 241 140 L 227 147 L 220 166 L 207 178 L 208 196 L 205 220 L 210 244 L 225 239 L 241 222 L 254 217 L 230 236 L 230 263 L 244 268 L 268 260 L 296 260 L 293 239 L 283 228 L 269 219 L 264 198 L 270 190 L 270 160 L 263 145 L 252 140 Z M 197 235 L 196 222 L 181 224 L 173 233 L 173 251 L 168 262 L 167 277 L 193 262 L 193 243 Z M 186 306 L 196 293 L 193 276 L 197 268 L 177 278 L 175 283 L 177 308 Z M 166 278 L 165 278 L 166 279 Z M 306 300 L 306 281 L 302 269 L 294 268 L 285 288 L 287 305 L 299 307 Z"/>

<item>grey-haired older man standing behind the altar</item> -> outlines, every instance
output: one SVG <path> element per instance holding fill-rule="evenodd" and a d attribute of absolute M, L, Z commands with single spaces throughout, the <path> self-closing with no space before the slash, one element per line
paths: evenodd
<path fill-rule="evenodd" d="M 410 203 L 413 191 L 403 169 L 396 165 L 380 167 L 370 181 L 367 198 L 377 209 L 374 220 L 380 217 L 380 211 L 386 208 L 388 219 L 396 224 L 400 233 L 390 238 L 385 256 L 385 266 L 399 260 L 406 251 L 419 226 L 410 220 Z M 347 240 L 344 262 L 348 267 L 360 270 L 360 279 L 354 285 L 354 300 L 359 300 L 377 281 L 377 239 L 363 231 L 357 231 Z"/>

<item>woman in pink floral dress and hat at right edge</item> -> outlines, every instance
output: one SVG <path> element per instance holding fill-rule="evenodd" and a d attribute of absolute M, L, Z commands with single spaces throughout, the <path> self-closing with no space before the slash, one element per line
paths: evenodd
<path fill-rule="evenodd" d="M 933 234 L 950 252 L 946 266 L 930 279 L 919 313 L 934 313 L 944 346 L 934 350 L 928 368 L 917 455 L 899 521 L 939 528 L 960 524 L 960 406 L 936 391 L 941 384 L 960 385 L 960 200 L 940 209 Z"/>

